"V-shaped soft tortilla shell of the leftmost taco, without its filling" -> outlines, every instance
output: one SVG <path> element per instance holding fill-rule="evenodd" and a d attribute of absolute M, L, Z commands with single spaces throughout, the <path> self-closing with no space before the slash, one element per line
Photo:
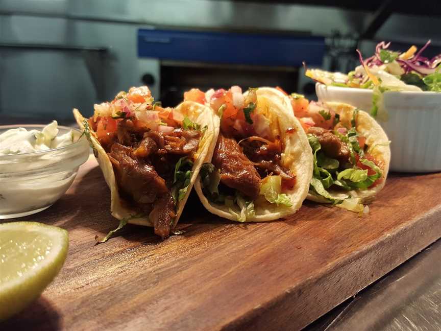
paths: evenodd
<path fill-rule="evenodd" d="M 210 149 L 214 149 L 217 135 L 219 133 L 219 120 L 216 116 L 214 116 L 213 111 L 210 107 L 191 102 L 185 101 L 178 105 L 176 109 L 182 113 L 184 116 L 188 116 L 188 118 L 194 123 L 198 123 L 201 127 L 207 126 L 207 130 L 205 130 L 197 152 L 194 154 L 195 161 L 193 163 L 192 168 L 192 176 L 190 180 L 190 184 L 188 185 L 187 193 L 185 194 L 184 199 L 178 202 L 176 218 L 174 221 L 174 226 L 178 223 L 179 217 L 182 214 L 182 210 L 184 209 L 185 202 L 190 195 L 191 188 L 199 174 L 199 170 L 201 169 L 203 161 L 207 157 L 207 153 Z M 84 121 L 87 123 L 87 119 L 85 119 L 78 109 L 74 109 L 74 116 L 77 120 L 78 125 L 83 130 L 85 129 Z M 144 226 L 154 226 L 150 221 L 149 217 L 146 215 L 139 215 L 139 213 L 130 207 L 129 204 L 124 201 L 119 196 L 118 186 L 116 184 L 115 174 L 113 171 L 112 163 L 110 162 L 109 156 L 107 155 L 104 148 L 100 145 L 95 132 L 91 128 L 90 135 L 88 135 L 89 142 L 94 150 L 94 155 L 100 164 L 100 168 L 103 171 L 104 178 L 107 182 L 107 185 L 110 188 L 111 193 L 111 202 L 110 202 L 110 212 L 113 217 L 117 220 L 127 220 L 128 223 L 144 225 Z M 213 154 L 213 152 L 211 152 Z M 173 228 L 173 226 L 172 226 Z"/>

